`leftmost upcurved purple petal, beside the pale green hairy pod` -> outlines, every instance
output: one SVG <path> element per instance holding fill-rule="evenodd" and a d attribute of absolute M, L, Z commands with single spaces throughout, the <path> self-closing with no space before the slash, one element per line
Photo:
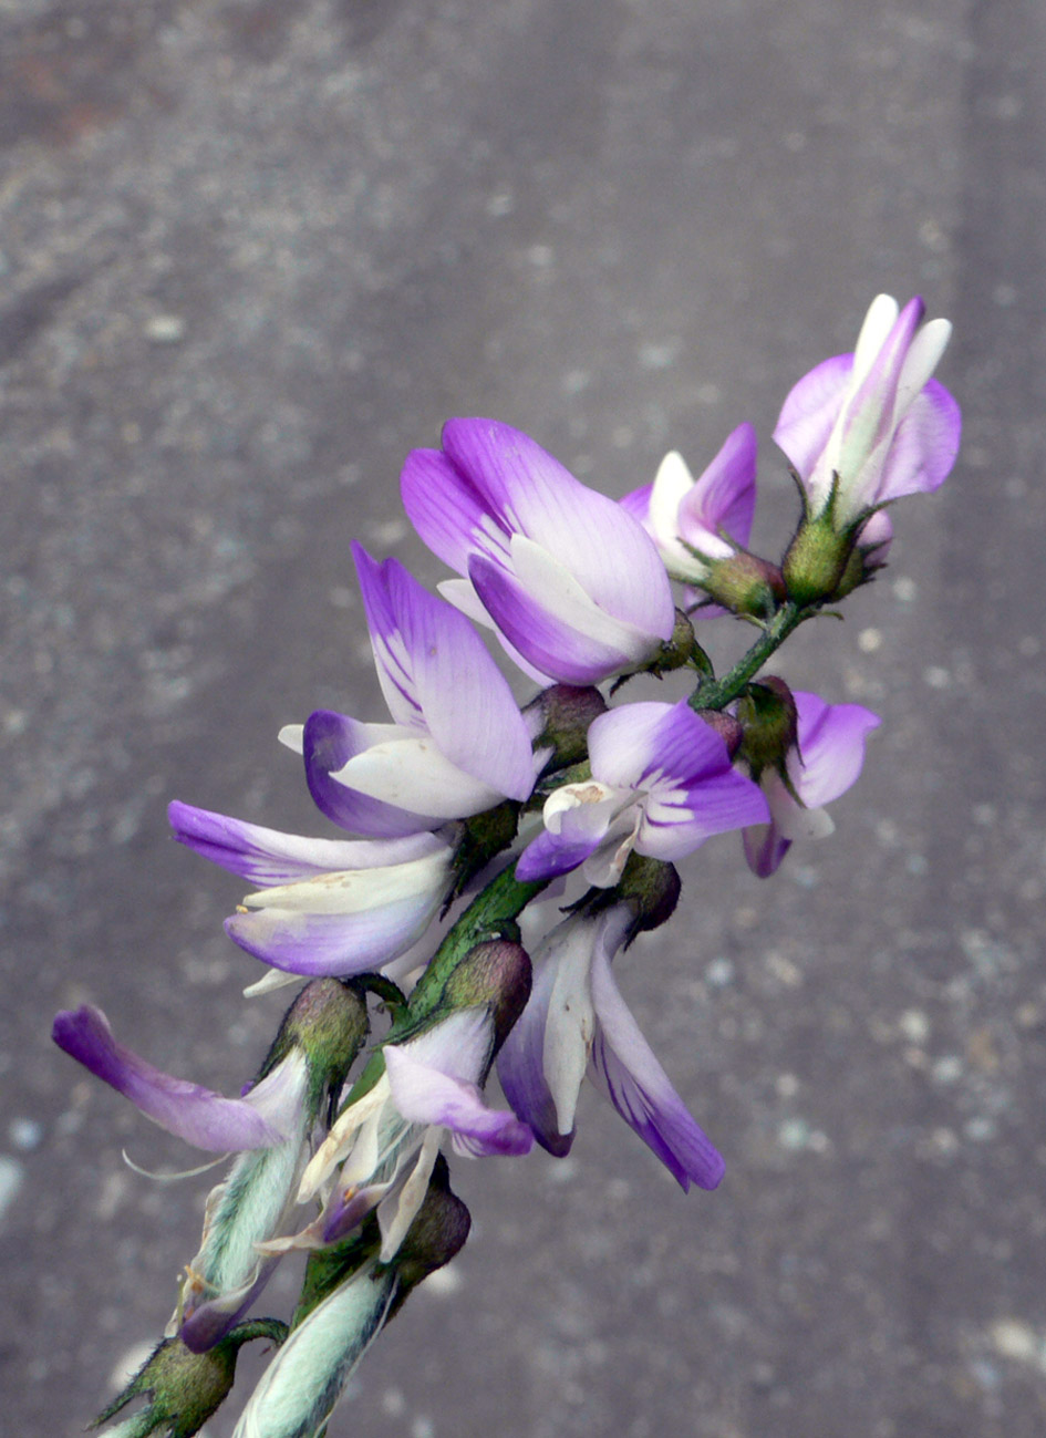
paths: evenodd
<path fill-rule="evenodd" d="M 117 1043 L 105 1014 L 89 1004 L 58 1014 L 52 1038 L 161 1129 L 197 1149 L 229 1153 L 270 1148 L 299 1127 L 308 1067 L 298 1050 L 255 1084 L 245 1099 L 223 1099 L 210 1089 L 161 1073 L 124 1048 Z"/>

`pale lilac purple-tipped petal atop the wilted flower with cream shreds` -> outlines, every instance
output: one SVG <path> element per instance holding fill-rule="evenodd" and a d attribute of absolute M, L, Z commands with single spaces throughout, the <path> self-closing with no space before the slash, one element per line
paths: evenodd
<path fill-rule="evenodd" d="M 410 1045 L 386 1044 L 386 1070 L 396 1107 L 411 1123 L 452 1129 L 473 1153 L 529 1153 L 534 1136 L 504 1109 L 489 1109 L 476 1084 L 419 1063 Z"/>

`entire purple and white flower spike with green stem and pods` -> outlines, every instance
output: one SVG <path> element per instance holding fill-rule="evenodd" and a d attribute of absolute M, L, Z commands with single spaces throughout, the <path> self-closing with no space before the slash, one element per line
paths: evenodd
<path fill-rule="evenodd" d="M 281 1255 L 304 1250 L 289 1336 L 237 1434 L 318 1434 L 373 1337 L 465 1241 L 445 1143 L 522 1156 L 537 1142 L 561 1156 L 586 1078 L 685 1191 L 717 1188 L 724 1158 L 640 1032 L 614 962 L 668 922 L 675 866 L 705 841 L 734 831 L 767 877 L 793 843 L 832 833 L 826 805 L 856 781 L 879 719 L 764 666 L 873 578 L 892 538 L 885 506 L 935 489 L 954 462 L 958 410 L 931 378 L 948 326 L 922 316 L 921 301 L 901 311 L 881 296 L 855 352 L 786 398 L 774 437 L 803 512 L 777 561 L 748 548 L 748 424 L 696 479 L 670 453 L 620 503 L 494 420 L 450 420 L 439 449 L 407 457 L 406 512 L 458 578 L 437 597 L 354 545 L 388 716 L 317 710 L 279 735 L 347 837 L 170 807 L 181 844 L 250 884 L 226 922 L 266 965 L 249 992 L 306 981 L 256 1078 L 224 1099 L 125 1048 L 99 1009 L 55 1021 L 56 1043 L 154 1122 L 236 1155 L 167 1339 L 109 1411 L 154 1393 L 128 1432 L 171 1414 L 203 1422 L 239 1343 L 283 1339 L 275 1320 L 245 1316 Z M 717 677 L 695 624 L 724 614 L 754 621 L 757 638 Z M 532 702 L 519 706 L 473 624 L 538 686 Z M 639 673 L 682 693 L 620 699 Z M 570 884 L 565 917 L 528 953 L 517 920 Z M 495 1068 L 506 1106 L 485 1091 Z M 197 1380 L 206 1401 L 187 1393 Z"/>

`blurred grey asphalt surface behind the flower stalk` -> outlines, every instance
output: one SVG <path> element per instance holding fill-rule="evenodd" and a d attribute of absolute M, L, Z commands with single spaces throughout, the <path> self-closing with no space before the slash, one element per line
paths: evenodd
<path fill-rule="evenodd" d="M 253 1071 L 279 995 L 240 998 L 239 883 L 164 805 L 324 831 L 275 735 L 381 713 L 348 544 L 439 577 L 406 452 L 486 413 L 620 495 L 751 418 L 773 549 L 780 401 L 886 289 L 954 319 L 965 443 L 787 651 L 882 713 L 863 782 L 776 881 L 709 844 L 619 965 L 728 1176 L 685 1198 L 594 1094 L 563 1163 L 458 1162 L 473 1238 L 331 1435 L 1040 1435 L 1040 0 L 3 0 L 0 32 L 0 1428 L 78 1432 L 194 1252 L 209 1179 L 124 1166 L 186 1150 L 50 1017 Z"/>

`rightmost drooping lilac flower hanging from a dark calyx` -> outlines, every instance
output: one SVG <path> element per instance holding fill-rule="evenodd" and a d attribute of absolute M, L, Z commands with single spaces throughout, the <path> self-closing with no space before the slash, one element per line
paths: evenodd
<path fill-rule="evenodd" d="M 796 801 L 776 769 L 764 769 L 763 791 L 770 823 L 744 831 L 748 867 L 767 879 L 791 848 L 793 840 L 826 838 L 834 828 L 824 804 L 837 800 L 860 774 L 865 739 L 881 720 L 862 705 L 829 705 L 817 695 L 794 692 L 797 743 L 788 751 L 788 782 Z"/>

